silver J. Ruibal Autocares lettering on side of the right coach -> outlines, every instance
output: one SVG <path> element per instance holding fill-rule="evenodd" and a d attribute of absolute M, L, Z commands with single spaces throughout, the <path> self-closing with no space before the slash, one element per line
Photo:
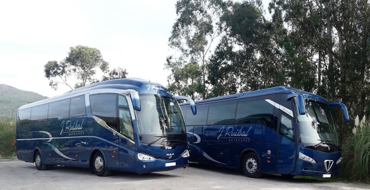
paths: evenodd
<path fill-rule="evenodd" d="M 217 139 L 228 139 L 229 141 L 240 141 L 240 142 L 249 142 L 250 139 L 248 137 L 249 135 L 249 130 L 252 127 L 249 127 L 248 130 L 244 130 L 244 127 L 241 127 L 240 129 L 237 129 L 234 131 L 234 127 L 226 127 L 225 126 L 221 127 L 219 130 L 220 134 L 217 137 Z"/>

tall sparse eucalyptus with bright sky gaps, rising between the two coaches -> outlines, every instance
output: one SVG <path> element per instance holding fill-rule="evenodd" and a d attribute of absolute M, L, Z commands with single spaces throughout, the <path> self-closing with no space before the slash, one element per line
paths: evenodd
<path fill-rule="evenodd" d="M 191 64 L 189 77 L 179 81 L 177 76 L 169 76 L 169 87 L 185 88 L 183 91 L 200 95 L 205 99 L 209 90 L 207 80 L 207 65 L 209 63 L 209 54 L 211 54 L 212 44 L 219 36 L 220 32 L 216 23 L 221 15 L 226 2 L 222 0 L 178 0 L 176 3 L 176 19 L 171 36 L 169 37 L 169 46 L 179 52 L 180 57 L 170 56 L 167 59 L 166 69 L 179 70 L 185 68 L 185 65 Z M 168 60 L 176 60 L 179 64 L 168 64 Z M 199 72 L 195 72 L 195 65 L 198 64 Z M 172 67 L 177 66 L 178 68 Z M 186 71 L 186 70 L 182 70 Z M 198 77 L 194 77 L 198 74 Z M 196 80 L 194 80 L 197 78 Z M 198 80 L 199 79 L 199 80 Z M 192 81 L 190 81 L 192 80 Z M 199 83 L 199 84 L 194 84 Z M 188 84 L 190 83 L 190 84 Z M 190 85 L 190 86 L 189 86 Z M 196 86 L 196 87 L 194 87 Z"/>

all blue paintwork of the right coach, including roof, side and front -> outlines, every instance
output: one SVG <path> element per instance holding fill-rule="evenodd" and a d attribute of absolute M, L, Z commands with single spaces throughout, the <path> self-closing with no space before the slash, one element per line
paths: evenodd
<path fill-rule="evenodd" d="M 222 96 L 211 98 L 207 100 L 196 101 L 196 104 L 206 104 L 211 102 L 218 102 L 224 100 L 235 100 L 242 99 L 246 97 L 256 97 L 265 96 L 269 94 L 295 94 L 291 95 L 293 97 L 302 96 L 305 99 L 312 99 L 316 101 L 321 101 L 323 103 L 328 103 L 326 99 L 316 94 L 308 93 L 298 89 L 293 89 L 290 87 L 273 87 L 270 89 L 263 89 L 257 91 L 251 91 L 240 94 L 233 94 L 229 96 Z M 278 99 L 278 98 L 277 98 Z M 277 103 L 279 101 L 276 100 Z M 189 103 L 181 104 L 181 107 L 188 106 Z M 275 109 L 274 116 L 279 116 L 280 111 Z M 345 112 L 345 111 L 344 111 Z M 303 113 L 303 111 L 300 111 Z M 345 116 L 346 117 L 346 116 Z M 296 127 L 296 120 L 293 119 L 293 123 Z M 185 121 L 186 123 L 186 121 Z M 222 126 L 186 126 L 187 137 L 189 141 L 188 149 L 191 151 L 190 161 L 196 161 L 199 163 L 206 163 L 215 166 L 232 167 L 240 169 L 240 161 L 242 159 L 242 154 L 245 150 L 253 150 L 258 154 L 261 161 L 261 170 L 263 173 L 281 173 L 281 174 L 293 174 L 302 176 L 317 176 L 322 177 L 322 174 L 332 174 L 335 176 L 339 173 L 339 165 L 336 161 L 340 158 L 341 153 L 324 153 L 316 150 L 307 149 L 298 146 L 297 142 L 291 141 L 276 131 L 270 129 L 269 127 L 262 126 L 259 124 L 243 124 L 235 126 L 252 126 L 252 133 L 250 133 L 250 141 L 248 142 L 222 142 L 216 137 L 218 137 L 217 132 Z M 263 135 L 254 133 L 255 127 L 263 128 Z M 278 128 L 279 129 L 279 128 Z M 206 132 L 208 131 L 208 132 Z M 194 135 L 193 135 L 194 133 Z M 202 140 L 198 143 L 196 141 L 196 136 L 199 136 Z M 298 135 L 298 134 L 296 134 Z M 298 136 L 297 136 L 298 137 Z M 267 150 L 271 151 L 271 154 L 267 154 Z M 280 155 L 279 155 L 280 151 Z M 298 158 L 299 151 L 306 154 L 307 156 L 317 159 L 319 164 L 311 164 L 309 162 L 300 160 Z M 207 159 L 203 152 L 206 152 L 211 158 Z M 269 159 L 268 159 L 269 157 Z M 324 169 L 323 161 L 333 160 L 334 165 L 329 172 Z M 217 162 L 215 162 L 217 161 Z M 268 163 L 267 161 L 270 161 Z"/>

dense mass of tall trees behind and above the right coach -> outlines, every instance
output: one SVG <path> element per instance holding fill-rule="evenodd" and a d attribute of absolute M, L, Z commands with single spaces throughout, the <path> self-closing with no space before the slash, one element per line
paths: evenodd
<path fill-rule="evenodd" d="M 341 101 L 351 117 L 369 115 L 369 4 L 368 0 L 272 0 L 271 18 L 266 19 L 260 0 L 179 0 L 169 45 L 182 57 L 167 59 L 165 68 L 172 71 L 169 87 L 204 99 L 285 85 Z M 204 9 L 205 5 L 217 11 Z M 202 15 L 213 22 L 203 19 L 200 24 Z M 213 35 L 219 36 L 218 44 L 208 49 Z M 186 70 L 188 63 L 198 64 L 199 69 Z M 204 88 L 197 88 L 204 84 L 209 85 L 206 96 Z M 337 123 L 343 140 L 351 127 L 342 117 L 337 119 L 342 121 Z"/>

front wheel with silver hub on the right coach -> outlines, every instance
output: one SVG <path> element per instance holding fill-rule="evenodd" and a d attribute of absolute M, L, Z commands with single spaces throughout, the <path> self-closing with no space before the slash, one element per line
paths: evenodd
<path fill-rule="evenodd" d="M 244 156 L 242 168 L 247 177 L 259 178 L 262 176 L 261 163 L 256 153 L 248 153 Z"/>

